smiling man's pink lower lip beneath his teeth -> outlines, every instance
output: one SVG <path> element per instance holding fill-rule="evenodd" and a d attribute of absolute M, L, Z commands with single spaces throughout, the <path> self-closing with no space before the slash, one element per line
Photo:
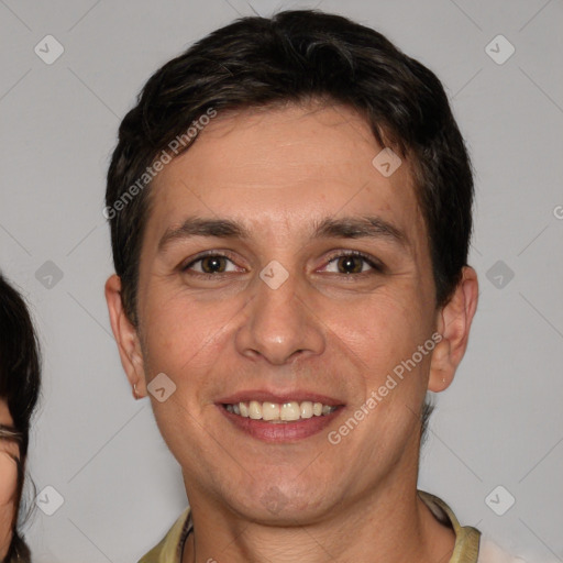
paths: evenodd
<path fill-rule="evenodd" d="M 313 416 L 294 422 L 275 423 L 234 415 L 229 412 L 222 405 L 218 405 L 218 408 L 239 430 L 264 442 L 297 442 L 318 434 L 340 416 L 343 410 L 343 407 L 338 407 L 330 415 Z"/>

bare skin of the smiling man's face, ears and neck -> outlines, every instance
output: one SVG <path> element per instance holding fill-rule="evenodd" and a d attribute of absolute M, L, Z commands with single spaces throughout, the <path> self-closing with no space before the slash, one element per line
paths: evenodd
<path fill-rule="evenodd" d="M 466 267 L 450 303 L 435 307 L 409 163 L 384 177 L 372 165 L 382 148 L 344 107 L 244 111 L 212 120 L 154 181 L 139 331 L 123 312 L 117 276 L 106 296 L 136 394 L 146 396 L 159 373 L 176 385 L 164 402 L 150 397 L 192 508 L 184 563 L 451 556 L 453 532 L 416 494 L 419 413 L 427 389 L 445 389 L 463 357 L 477 279 Z M 402 231 L 406 245 L 385 236 L 310 239 L 314 221 L 366 213 Z M 241 221 L 251 239 L 181 239 L 158 252 L 166 230 L 187 216 Z M 230 252 L 219 258 L 222 278 L 198 278 L 201 262 L 181 272 L 207 250 Z M 372 274 L 342 273 L 345 258 L 332 256 L 353 250 L 384 271 L 356 258 L 352 268 Z M 274 260 L 289 275 L 277 289 L 258 276 Z M 345 439 L 329 443 L 328 432 L 434 331 L 443 340 L 433 353 Z M 216 405 L 243 389 L 307 389 L 344 408 L 318 434 L 265 443 Z"/>

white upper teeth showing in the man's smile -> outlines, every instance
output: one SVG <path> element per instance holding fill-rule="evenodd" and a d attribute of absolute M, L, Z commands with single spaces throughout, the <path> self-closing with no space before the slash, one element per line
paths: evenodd
<path fill-rule="evenodd" d="M 302 402 L 290 401 L 282 405 L 278 402 L 251 400 L 250 402 L 227 405 L 225 408 L 229 412 L 254 420 L 299 420 L 300 418 L 330 415 L 336 407 L 310 400 L 303 400 Z"/>

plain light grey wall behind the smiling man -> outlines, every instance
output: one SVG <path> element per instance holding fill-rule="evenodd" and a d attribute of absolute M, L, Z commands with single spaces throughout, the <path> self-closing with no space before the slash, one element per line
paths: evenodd
<path fill-rule="evenodd" d="M 30 472 L 64 498 L 26 528 L 37 563 L 135 562 L 186 504 L 148 399 L 131 396 L 103 299 L 120 119 L 198 37 L 253 9 L 316 4 L 438 74 L 476 169 L 481 302 L 456 379 L 435 397 L 420 487 L 505 548 L 563 561 L 561 0 L 0 0 L 0 265 L 32 303 L 45 352 Z M 47 34 L 65 49 L 52 65 L 34 53 Z M 501 65 L 485 51 L 498 34 L 516 48 Z M 503 516 L 485 501 L 498 485 L 497 510 L 516 498 Z M 41 498 L 56 508 L 53 492 Z"/>

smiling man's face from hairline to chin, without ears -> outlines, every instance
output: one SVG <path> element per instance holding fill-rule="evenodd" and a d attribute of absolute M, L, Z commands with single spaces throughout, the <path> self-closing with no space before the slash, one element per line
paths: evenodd
<path fill-rule="evenodd" d="M 146 383 L 164 373 L 176 385 L 151 400 L 191 501 L 302 520 L 416 473 L 430 354 L 365 407 L 437 322 L 408 163 L 386 177 L 372 164 L 382 150 L 343 107 L 219 115 L 155 179 L 140 340 Z M 188 217 L 240 223 L 249 236 L 188 236 Z M 366 217 L 378 221 L 373 236 L 312 236 L 325 220 Z M 345 256 L 354 251 L 377 268 Z M 307 412 L 308 399 L 338 408 L 282 422 L 225 408 L 295 401 Z M 338 441 L 362 406 L 367 415 Z"/>

